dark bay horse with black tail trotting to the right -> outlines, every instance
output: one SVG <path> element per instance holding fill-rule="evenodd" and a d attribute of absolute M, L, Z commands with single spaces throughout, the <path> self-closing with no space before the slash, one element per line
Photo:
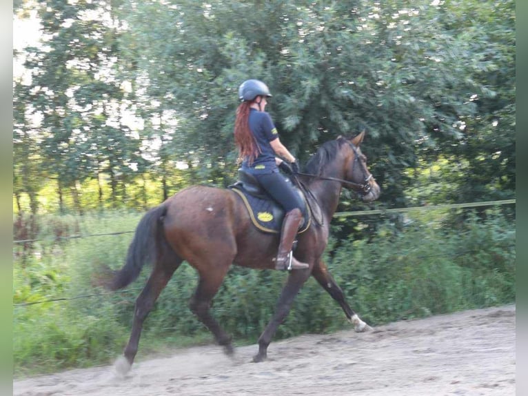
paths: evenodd
<path fill-rule="evenodd" d="M 289 273 L 276 311 L 258 339 L 254 362 L 266 359 L 267 347 L 278 325 L 285 319 L 295 296 L 310 275 L 343 308 L 356 331 L 368 328 L 349 307 L 341 288 L 321 259 L 341 189 L 356 190 L 365 202 L 374 201 L 380 194 L 359 147 L 364 135 L 365 132 L 361 132 L 353 139 L 338 137 L 327 141 L 308 161 L 306 173 L 297 176 L 316 202 L 316 208 L 312 209 L 316 209 L 314 212 L 319 217 L 318 221 L 312 221 L 308 230 L 298 235 L 294 252 L 298 260 L 309 264 L 309 268 Z M 274 269 L 278 241 L 277 234 L 266 234 L 253 226 L 241 198 L 229 189 L 192 186 L 149 210 L 139 221 L 125 265 L 106 284 L 111 290 L 123 288 L 138 277 L 145 262 L 153 264 L 150 278 L 136 300 L 132 332 L 123 352 L 124 359 L 121 357 L 116 364 L 118 371 L 125 373 L 132 366 L 143 321 L 184 260 L 199 274 L 190 309 L 212 332 L 225 353 L 234 353 L 231 337 L 210 314 L 210 304 L 232 264 Z"/>

